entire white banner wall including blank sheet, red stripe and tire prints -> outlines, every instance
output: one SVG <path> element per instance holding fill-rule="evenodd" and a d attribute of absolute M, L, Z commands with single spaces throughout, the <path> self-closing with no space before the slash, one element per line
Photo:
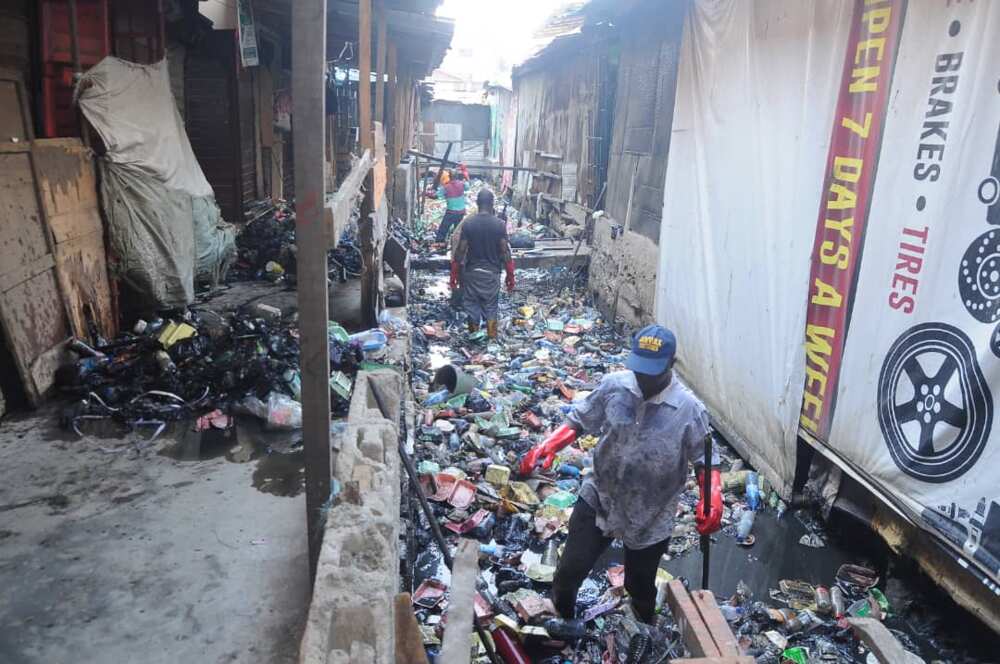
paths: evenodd
<path fill-rule="evenodd" d="M 802 435 L 993 594 L 998 34 L 995 3 L 694 3 L 657 300 L 783 491 Z"/>

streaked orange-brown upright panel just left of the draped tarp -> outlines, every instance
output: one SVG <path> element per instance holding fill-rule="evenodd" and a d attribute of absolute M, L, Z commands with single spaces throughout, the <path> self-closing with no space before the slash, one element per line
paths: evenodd
<path fill-rule="evenodd" d="M 94 163 L 78 139 L 35 141 L 42 209 L 55 239 L 56 274 L 73 334 L 116 333 Z"/>

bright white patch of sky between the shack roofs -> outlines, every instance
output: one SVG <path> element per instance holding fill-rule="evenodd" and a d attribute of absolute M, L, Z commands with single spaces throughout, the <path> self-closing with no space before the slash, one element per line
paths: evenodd
<path fill-rule="evenodd" d="M 438 16 L 455 20 L 455 37 L 441 68 L 508 82 L 510 69 L 531 55 L 532 35 L 567 0 L 445 0 Z"/>

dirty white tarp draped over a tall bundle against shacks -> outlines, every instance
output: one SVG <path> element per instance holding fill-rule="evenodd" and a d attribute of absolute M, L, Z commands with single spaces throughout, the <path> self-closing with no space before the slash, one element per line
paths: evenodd
<path fill-rule="evenodd" d="M 105 58 L 78 86 L 107 148 L 102 195 L 120 276 L 158 308 L 189 304 L 195 280 L 217 281 L 235 258 L 170 90 L 166 60 Z"/>

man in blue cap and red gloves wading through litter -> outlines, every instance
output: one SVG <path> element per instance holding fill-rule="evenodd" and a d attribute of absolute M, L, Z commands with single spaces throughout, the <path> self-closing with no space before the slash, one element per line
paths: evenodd
<path fill-rule="evenodd" d="M 527 476 L 539 463 L 550 468 L 577 435 L 599 436 L 593 473 L 580 488 L 552 585 L 553 602 L 564 619 L 574 617 L 580 585 L 614 539 L 625 545 L 625 589 L 632 607 L 640 619 L 654 618 L 656 569 L 670 545 L 688 463 L 701 476 L 709 435 L 705 407 L 674 378 L 676 349 L 670 330 L 659 325 L 640 330 L 632 339 L 628 371 L 605 376 L 521 462 L 521 474 Z M 704 496 L 696 511 L 701 534 L 718 530 L 722 521 L 719 471 L 711 472 L 709 515 Z"/>

